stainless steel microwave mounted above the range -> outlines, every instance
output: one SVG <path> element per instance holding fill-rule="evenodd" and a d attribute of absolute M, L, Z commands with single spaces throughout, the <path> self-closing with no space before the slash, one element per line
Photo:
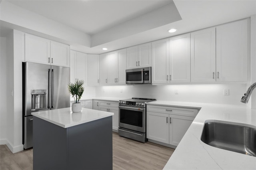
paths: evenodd
<path fill-rule="evenodd" d="M 126 70 L 126 84 L 150 84 L 151 67 Z"/>

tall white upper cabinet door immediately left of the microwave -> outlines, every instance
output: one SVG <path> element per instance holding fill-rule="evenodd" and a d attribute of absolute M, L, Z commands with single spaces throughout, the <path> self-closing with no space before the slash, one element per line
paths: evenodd
<path fill-rule="evenodd" d="M 126 84 L 126 49 L 116 51 L 118 56 L 118 84 Z"/>

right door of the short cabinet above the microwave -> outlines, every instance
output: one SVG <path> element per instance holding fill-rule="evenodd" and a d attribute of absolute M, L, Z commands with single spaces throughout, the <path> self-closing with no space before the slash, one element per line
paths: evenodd
<path fill-rule="evenodd" d="M 151 67 L 151 42 L 138 45 L 138 67 Z"/>

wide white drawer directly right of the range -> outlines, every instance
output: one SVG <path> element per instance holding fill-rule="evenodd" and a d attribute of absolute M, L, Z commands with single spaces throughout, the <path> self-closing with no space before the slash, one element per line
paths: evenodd
<path fill-rule="evenodd" d="M 147 105 L 147 111 L 157 113 L 167 113 L 172 115 L 196 117 L 198 109 L 184 108 L 184 107 L 170 107 L 170 106 L 158 106 Z"/>

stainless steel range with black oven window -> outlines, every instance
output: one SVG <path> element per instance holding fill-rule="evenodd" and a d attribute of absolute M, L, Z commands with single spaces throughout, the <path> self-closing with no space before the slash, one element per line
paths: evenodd
<path fill-rule="evenodd" d="M 120 100 L 118 134 L 146 142 L 146 103 L 155 100 L 143 98 Z"/>

